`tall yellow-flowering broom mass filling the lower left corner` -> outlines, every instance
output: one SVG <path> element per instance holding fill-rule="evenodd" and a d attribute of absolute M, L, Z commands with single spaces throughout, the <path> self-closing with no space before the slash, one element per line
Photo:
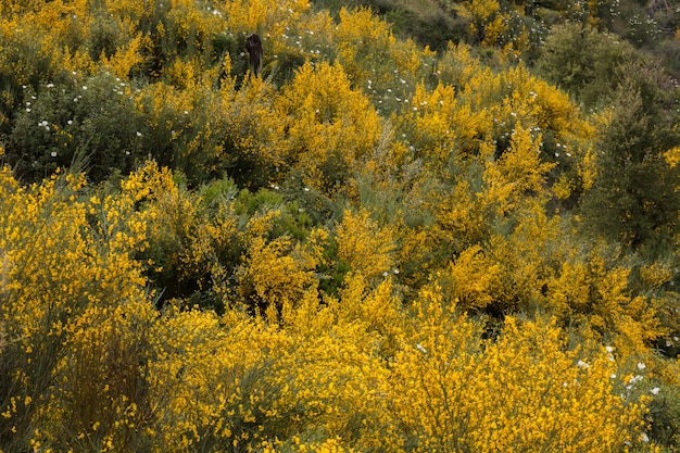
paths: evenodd
<path fill-rule="evenodd" d="M 2 443 L 117 438 L 139 376 L 116 369 L 137 370 L 143 348 L 131 339 L 152 317 L 133 259 L 146 247 L 143 214 L 129 191 L 88 199 L 73 174 L 22 187 L 4 167 L 1 178 L 0 310 L 13 339 L 3 352 Z M 90 407 L 102 392 L 110 408 Z"/>

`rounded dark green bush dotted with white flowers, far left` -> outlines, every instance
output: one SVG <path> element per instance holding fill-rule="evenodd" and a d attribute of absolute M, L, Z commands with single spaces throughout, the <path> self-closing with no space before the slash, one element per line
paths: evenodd
<path fill-rule="evenodd" d="M 88 177 L 127 173 L 141 154 L 142 123 L 130 87 L 108 73 L 62 77 L 28 88 L 8 137 L 7 158 L 25 180 L 38 180 L 74 160 Z"/>

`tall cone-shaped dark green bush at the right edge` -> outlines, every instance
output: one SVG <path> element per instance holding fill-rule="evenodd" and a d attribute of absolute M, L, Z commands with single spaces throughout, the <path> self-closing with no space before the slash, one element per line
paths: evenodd
<path fill-rule="evenodd" d="M 616 91 L 612 118 L 595 146 L 596 177 L 581 205 L 599 236 L 638 248 L 678 232 L 680 184 L 663 153 L 680 135 L 660 103 L 664 93 L 640 66 Z"/>

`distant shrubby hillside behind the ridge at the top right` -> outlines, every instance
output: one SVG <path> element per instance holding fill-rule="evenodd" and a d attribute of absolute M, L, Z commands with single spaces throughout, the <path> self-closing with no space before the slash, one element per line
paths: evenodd
<path fill-rule="evenodd" d="M 680 78 L 680 5 L 669 1 L 632 0 L 549 1 L 549 2 L 455 2 L 444 0 L 318 0 L 318 8 L 338 10 L 341 5 L 367 7 L 392 24 L 395 33 L 431 49 L 445 49 L 446 41 L 479 43 L 479 34 L 493 21 L 503 32 L 490 46 L 522 50 L 522 58 L 533 63 L 542 43 L 556 25 L 579 23 L 601 33 L 615 34 L 659 61 L 675 78 Z"/>

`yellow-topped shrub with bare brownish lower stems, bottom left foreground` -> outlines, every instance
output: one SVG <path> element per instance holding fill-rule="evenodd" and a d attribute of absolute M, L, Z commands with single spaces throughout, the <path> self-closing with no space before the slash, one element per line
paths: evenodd
<path fill-rule="evenodd" d="M 149 329 L 155 309 L 143 294 L 115 306 L 92 305 L 65 326 L 64 353 L 53 372 L 59 385 L 38 408 L 47 424 L 37 440 L 55 449 L 134 451 L 153 416 L 148 405 Z M 93 404 L 93 402 L 97 402 Z M 39 418 L 39 419 L 40 419 Z"/>

